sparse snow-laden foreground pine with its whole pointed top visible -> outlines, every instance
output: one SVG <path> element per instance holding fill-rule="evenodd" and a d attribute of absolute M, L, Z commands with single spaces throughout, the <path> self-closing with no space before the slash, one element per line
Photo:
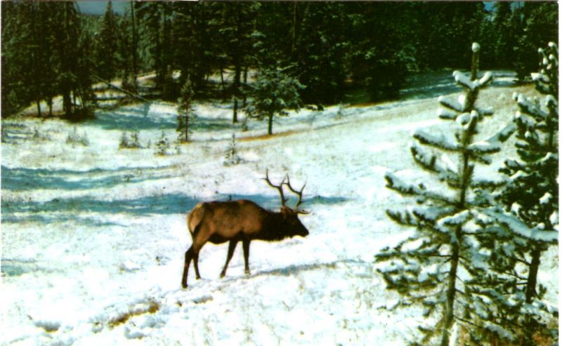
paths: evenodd
<path fill-rule="evenodd" d="M 387 211 L 400 225 L 416 227 L 416 231 L 393 248 L 384 248 L 376 255 L 378 271 L 386 281 L 386 288 L 401 295 L 399 305 L 421 305 L 425 317 L 436 317 L 433 327 L 420 326 L 421 342 L 428 345 L 439 338 L 440 345 L 450 345 L 453 324 L 471 327 L 471 297 L 466 294 L 465 279 L 471 278 L 472 268 L 483 264 L 483 255 L 475 241 L 478 225 L 474 222 L 478 209 L 490 204 L 482 193 L 492 182 L 474 176 L 475 164 L 490 164 L 490 154 L 499 152 L 499 142 L 513 133 L 507 126 L 483 140 L 477 140 L 478 124 L 492 115 L 492 109 L 476 105 L 478 92 L 492 80 L 490 72 L 478 79 L 478 44 L 472 45 L 471 75 L 453 72 L 455 81 L 465 93 L 458 100 L 438 98 L 440 119 L 456 121 L 454 137 L 434 135 L 424 130 L 414 133 L 421 145 L 444 153 L 423 149 L 416 143 L 411 147 L 416 164 L 436 175 L 441 183 L 429 189 L 423 182 L 409 184 L 393 173 L 387 173 L 387 187 L 406 197 L 415 197 L 417 205 L 405 211 Z M 454 158 L 448 154 L 456 154 Z M 461 279 L 462 278 L 462 279 Z M 455 302 L 457 304 L 455 304 Z M 398 305 L 397 305 L 398 306 Z M 440 315 L 440 316 L 439 316 Z"/>

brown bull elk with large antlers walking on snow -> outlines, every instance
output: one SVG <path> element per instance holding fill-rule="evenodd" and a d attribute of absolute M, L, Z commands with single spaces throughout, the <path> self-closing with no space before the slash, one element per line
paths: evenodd
<path fill-rule="evenodd" d="M 244 269 L 249 274 L 249 251 L 250 241 L 279 241 L 288 237 L 308 235 L 308 229 L 299 220 L 299 214 L 306 214 L 308 211 L 299 209 L 303 198 L 303 187 L 300 190 L 294 189 L 289 181 L 289 175 L 283 178 L 279 185 L 274 185 L 269 179 L 266 171 L 268 185 L 275 187 L 281 197 L 281 210 L 279 212 L 268 211 L 253 201 L 240 199 L 237 201 L 212 201 L 200 202 L 188 215 L 188 229 L 192 238 L 192 245 L 185 252 L 185 264 L 181 286 L 188 286 L 188 270 L 191 260 L 195 267 L 195 277 L 200 279 L 199 274 L 199 251 L 210 241 L 213 244 L 222 244 L 228 241 L 228 255 L 224 264 L 221 277 L 226 274 L 226 268 L 230 258 L 233 257 L 234 250 L 238 241 L 242 241 L 244 250 Z M 283 185 L 296 194 L 299 199 L 294 208 L 285 205 L 287 199 L 283 194 Z"/>

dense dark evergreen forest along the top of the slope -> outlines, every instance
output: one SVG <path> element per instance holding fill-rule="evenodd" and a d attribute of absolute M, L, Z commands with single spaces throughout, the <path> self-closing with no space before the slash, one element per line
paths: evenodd
<path fill-rule="evenodd" d="M 264 67 L 297 79 L 306 103 L 341 102 L 358 88 L 384 100 L 408 73 L 469 66 L 473 41 L 483 69 L 514 69 L 524 81 L 537 48 L 558 38 L 558 4 L 540 1 L 159 1 L 131 2 L 121 15 L 111 2 L 105 15 L 86 15 L 75 1 L 2 1 L 1 12 L 3 117 L 31 103 L 41 113 L 55 95 L 66 117 L 82 117 L 96 106 L 93 83 L 121 79 L 138 93 L 146 72 L 156 74 L 153 97 L 177 100 L 189 80 L 197 98 L 233 98 L 235 109 L 248 71 Z"/>

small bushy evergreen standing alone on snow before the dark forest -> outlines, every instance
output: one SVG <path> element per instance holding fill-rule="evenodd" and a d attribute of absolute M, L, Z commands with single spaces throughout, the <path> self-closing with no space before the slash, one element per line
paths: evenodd
<path fill-rule="evenodd" d="M 250 117 L 268 119 L 268 135 L 273 134 L 273 117 L 287 116 L 285 109 L 302 106 L 299 90 L 303 85 L 294 77 L 288 76 L 282 69 L 261 67 L 249 95 L 251 102 L 246 107 Z"/>

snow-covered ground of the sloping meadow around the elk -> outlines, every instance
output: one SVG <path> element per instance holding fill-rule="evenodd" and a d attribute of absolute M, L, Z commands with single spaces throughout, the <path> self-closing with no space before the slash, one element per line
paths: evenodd
<path fill-rule="evenodd" d="M 415 308 L 384 310 L 398 297 L 373 259 L 411 232 L 386 217 L 386 208 L 408 201 L 383 177 L 426 179 L 409 145 L 418 128 L 450 126 L 436 117 L 435 91 L 419 84 L 399 102 L 301 110 L 277 118 L 273 136 L 263 135 L 265 121 L 248 121 L 245 132 L 230 124 L 230 105 L 199 104 L 193 141 L 165 156 L 155 155 L 155 142 L 162 131 L 176 138 L 169 103 L 98 112 L 76 126 L 86 146 L 67 143 L 74 125 L 65 121 L 5 119 L 0 343 L 405 345 L 431 321 Z M 532 87 L 497 84 L 481 94 L 496 109 L 491 127 L 515 114 L 514 91 Z M 131 130 L 143 148 L 119 149 Z M 233 133 L 242 162 L 225 166 Z M 289 173 L 295 185 L 307 182 L 311 213 L 301 220 L 310 235 L 252 242 L 249 277 L 238 246 L 219 279 L 227 246 L 207 244 L 203 279 L 191 270 L 183 290 L 185 214 L 197 201 L 230 197 L 278 208 L 277 192 L 261 180 L 266 168 L 274 180 Z M 540 279 L 556 302 L 556 249 L 542 263 Z"/>

